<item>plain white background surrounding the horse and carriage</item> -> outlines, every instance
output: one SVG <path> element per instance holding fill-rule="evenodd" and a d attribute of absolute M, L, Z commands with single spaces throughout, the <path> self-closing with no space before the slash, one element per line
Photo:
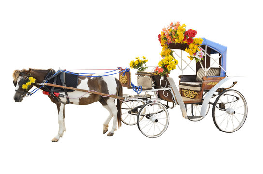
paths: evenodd
<path fill-rule="evenodd" d="M 1 0 L 0 173 L 262 173 L 262 15 L 255 0 Z M 176 107 L 159 138 L 124 124 L 107 137 L 108 111 L 98 102 L 67 105 L 67 131 L 52 143 L 55 104 L 41 92 L 13 100 L 15 69 L 113 69 L 137 56 L 156 65 L 157 35 L 171 21 L 228 47 L 227 71 L 246 76 L 234 87 L 248 103 L 240 130 L 219 131 L 211 111 L 200 122 L 185 120 Z"/>

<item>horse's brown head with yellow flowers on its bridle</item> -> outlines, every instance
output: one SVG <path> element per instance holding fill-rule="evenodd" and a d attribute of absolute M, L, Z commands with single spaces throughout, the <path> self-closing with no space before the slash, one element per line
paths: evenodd
<path fill-rule="evenodd" d="M 23 98 L 30 94 L 29 90 L 33 87 L 34 79 L 31 75 L 31 69 L 29 70 L 15 70 L 13 73 L 13 83 L 15 88 L 14 100 L 15 102 L 21 102 Z"/>

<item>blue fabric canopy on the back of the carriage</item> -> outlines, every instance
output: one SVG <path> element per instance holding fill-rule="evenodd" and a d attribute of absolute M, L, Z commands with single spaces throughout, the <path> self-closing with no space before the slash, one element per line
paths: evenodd
<path fill-rule="evenodd" d="M 203 39 L 202 45 L 205 45 L 205 46 L 208 46 L 208 47 L 212 48 L 211 54 L 220 53 L 222 55 L 221 66 L 226 71 L 226 50 L 227 50 L 227 47 L 223 46 L 223 45 L 221 45 L 219 43 L 215 43 L 213 41 L 205 39 L 205 38 L 202 38 L 202 39 Z M 221 68 L 220 75 L 221 76 L 225 76 L 226 72 L 222 68 Z"/>

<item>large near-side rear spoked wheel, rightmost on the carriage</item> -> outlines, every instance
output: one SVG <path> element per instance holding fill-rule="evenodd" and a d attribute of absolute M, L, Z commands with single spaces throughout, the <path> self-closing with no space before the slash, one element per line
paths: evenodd
<path fill-rule="evenodd" d="M 247 102 L 236 90 L 226 90 L 219 94 L 212 110 L 216 127 L 227 133 L 239 130 L 247 118 L 247 113 Z"/>

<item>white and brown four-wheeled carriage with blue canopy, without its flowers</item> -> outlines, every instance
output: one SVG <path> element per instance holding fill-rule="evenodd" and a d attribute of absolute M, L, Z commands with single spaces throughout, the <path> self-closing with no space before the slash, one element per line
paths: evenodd
<path fill-rule="evenodd" d="M 197 63 L 193 60 L 187 62 L 183 58 L 183 50 L 187 44 L 169 44 L 170 49 L 177 50 L 174 54 L 181 60 L 177 65 L 182 72 L 178 88 L 169 74 L 161 77 L 154 68 L 136 73 L 138 86 L 131 84 L 130 73 L 120 73 L 123 87 L 143 93 L 124 95 L 126 99 L 122 102 L 123 123 L 137 124 L 146 137 L 155 138 L 161 136 L 168 127 L 169 108 L 179 105 L 184 118 L 200 121 L 208 114 L 211 106 L 214 124 L 220 131 L 234 132 L 242 127 L 248 108 L 244 96 L 231 89 L 237 82 L 221 88 L 230 79 L 226 72 L 227 47 L 202 39 L 200 47 L 205 56 Z M 186 68 L 193 70 L 194 74 L 184 75 Z"/>

